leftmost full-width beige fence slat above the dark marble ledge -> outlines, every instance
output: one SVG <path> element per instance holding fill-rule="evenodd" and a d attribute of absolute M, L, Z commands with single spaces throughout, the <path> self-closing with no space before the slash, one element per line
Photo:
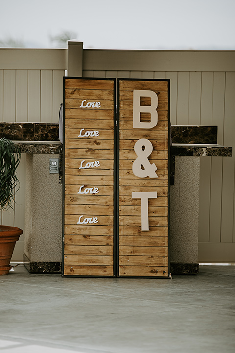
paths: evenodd
<path fill-rule="evenodd" d="M 3 121 L 16 121 L 16 70 L 4 70 Z"/>

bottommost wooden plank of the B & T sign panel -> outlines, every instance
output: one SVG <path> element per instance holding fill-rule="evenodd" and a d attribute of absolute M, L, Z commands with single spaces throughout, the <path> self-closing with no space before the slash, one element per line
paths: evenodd
<path fill-rule="evenodd" d="M 160 266 L 120 266 L 120 276 L 168 277 L 168 268 Z"/>

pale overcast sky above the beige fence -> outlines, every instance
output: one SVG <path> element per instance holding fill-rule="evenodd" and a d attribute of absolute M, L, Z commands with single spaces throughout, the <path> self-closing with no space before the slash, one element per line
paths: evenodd
<path fill-rule="evenodd" d="M 235 0 L 0 0 L 0 40 L 55 47 L 76 33 L 84 48 L 235 50 Z"/>

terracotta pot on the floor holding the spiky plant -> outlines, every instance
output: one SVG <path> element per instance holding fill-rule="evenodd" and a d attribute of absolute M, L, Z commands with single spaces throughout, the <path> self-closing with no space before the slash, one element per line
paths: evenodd
<path fill-rule="evenodd" d="M 0 275 L 10 271 L 10 261 L 15 244 L 23 230 L 17 227 L 0 226 Z"/>

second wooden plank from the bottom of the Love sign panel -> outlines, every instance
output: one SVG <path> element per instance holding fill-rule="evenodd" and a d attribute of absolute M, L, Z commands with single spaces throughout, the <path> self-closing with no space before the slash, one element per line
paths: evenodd
<path fill-rule="evenodd" d="M 65 265 L 113 266 L 113 256 L 66 255 Z"/>

